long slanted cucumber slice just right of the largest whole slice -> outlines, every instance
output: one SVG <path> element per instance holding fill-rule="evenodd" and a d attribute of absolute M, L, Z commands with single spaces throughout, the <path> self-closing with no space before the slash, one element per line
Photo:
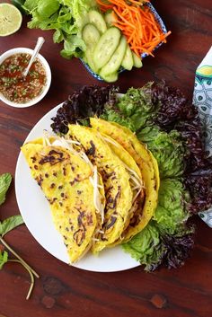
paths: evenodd
<path fill-rule="evenodd" d="M 121 65 L 123 57 L 125 56 L 127 46 L 127 40 L 125 36 L 122 36 L 119 42 L 119 46 L 110 57 L 109 62 L 102 67 L 102 73 L 104 75 L 110 75 L 119 70 L 119 66 Z"/>

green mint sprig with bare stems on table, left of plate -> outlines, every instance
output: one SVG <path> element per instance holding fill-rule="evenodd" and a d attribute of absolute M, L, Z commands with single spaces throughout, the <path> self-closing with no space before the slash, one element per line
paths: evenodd
<path fill-rule="evenodd" d="M 10 187 L 12 181 L 12 176 L 9 173 L 4 173 L 0 175 L 0 205 L 2 205 L 5 201 L 5 195 L 7 190 Z M 31 277 L 31 286 L 28 291 L 28 294 L 26 296 L 26 299 L 28 300 L 31 296 L 31 292 L 34 286 L 34 277 L 39 278 L 39 275 L 35 272 L 34 269 L 31 268 L 31 266 L 22 260 L 20 255 L 16 253 L 13 248 L 4 240 L 4 235 L 6 233 L 9 233 L 13 229 L 15 229 L 17 226 L 24 224 L 22 216 L 16 215 L 16 216 L 10 216 L 7 219 L 4 219 L 4 221 L 0 221 L 0 242 L 4 245 L 5 250 L 0 250 L 0 269 L 3 269 L 4 264 L 7 262 L 16 262 L 20 263 L 24 269 L 26 269 Z M 15 259 L 10 259 L 8 251 L 13 254 Z"/>

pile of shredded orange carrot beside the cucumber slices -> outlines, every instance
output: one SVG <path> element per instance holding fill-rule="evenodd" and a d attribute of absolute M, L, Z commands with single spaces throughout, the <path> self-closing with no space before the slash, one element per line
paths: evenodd
<path fill-rule="evenodd" d="M 145 5 L 149 0 L 96 0 L 102 12 L 112 9 L 113 25 L 119 28 L 126 36 L 129 47 L 137 54 L 142 53 L 154 56 L 155 47 L 163 42 L 171 34 L 171 31 L 163 33 L 155 15 Z"/>

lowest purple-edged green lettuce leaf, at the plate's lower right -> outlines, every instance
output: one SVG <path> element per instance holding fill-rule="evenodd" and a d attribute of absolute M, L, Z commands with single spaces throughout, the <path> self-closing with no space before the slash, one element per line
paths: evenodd
<path fill-rule="evenodd" d="M 168 269 L 181 267 L 190 257 L 194 246 L 194 228 L 184 226 L 178 233 L 167 234 L 152 220 L 146 228 L 137 233 L 122 249 L 145 265 L 146 271 L 154 271 L 160 266 Z"/>

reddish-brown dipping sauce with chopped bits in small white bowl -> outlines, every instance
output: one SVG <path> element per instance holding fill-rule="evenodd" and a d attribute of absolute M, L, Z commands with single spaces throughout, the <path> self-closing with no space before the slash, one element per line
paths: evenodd
<path fill-rule="evenodd" d="M 47 75 L 38 58 L 31 65 L 28 75 L 22 76 L 30 59 L 30 54 L 14 54 L 0 65 L 0 92 L 7 100 L 27 103 L 43 92 Z"/>

